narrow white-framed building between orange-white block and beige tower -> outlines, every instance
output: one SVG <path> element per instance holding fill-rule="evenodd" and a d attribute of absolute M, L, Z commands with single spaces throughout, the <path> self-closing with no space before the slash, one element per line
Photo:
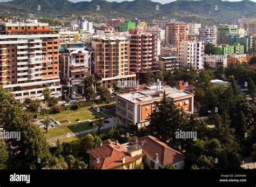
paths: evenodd
<path fill-rule="evenodd" d="M 85 50 L 85 43 L 61 43 L 59 52 L 63 93 L 84 94 L 83 80 L 90 74 L 90 53 Z"/>

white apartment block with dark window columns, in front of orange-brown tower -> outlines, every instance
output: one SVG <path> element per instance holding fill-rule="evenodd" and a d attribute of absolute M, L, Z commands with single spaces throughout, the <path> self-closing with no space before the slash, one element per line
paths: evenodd
<path fill-rule="evenodd" d="M 204 49 L 202 41 L 181 41 L 178 49 L 180 68 L 192 65 L 196 70 L 203 69 Z"/>

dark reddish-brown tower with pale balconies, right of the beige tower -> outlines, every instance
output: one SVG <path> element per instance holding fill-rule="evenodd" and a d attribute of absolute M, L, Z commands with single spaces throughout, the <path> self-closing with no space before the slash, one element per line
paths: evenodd
<path fill-rule="evenodd" d="M 130 30 L 130 71 L 145 73 L 157 61 L 157 35 Z"/>

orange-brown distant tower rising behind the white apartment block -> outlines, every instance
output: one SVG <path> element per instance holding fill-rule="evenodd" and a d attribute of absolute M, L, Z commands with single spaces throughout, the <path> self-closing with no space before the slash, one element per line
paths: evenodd
<path fill-rule="evenodd" d="M 181 41 L 187 40 L 186 24 L 169 23 L 166 24 L 165 42 L 170 45 L 179 45 Z"/>

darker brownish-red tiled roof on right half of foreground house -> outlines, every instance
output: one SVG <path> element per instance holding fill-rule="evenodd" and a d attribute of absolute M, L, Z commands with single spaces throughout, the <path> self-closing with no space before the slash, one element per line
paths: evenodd
<path fill-rule="evenodd" d="M 132 141 L 131 143 L 134 144 L 134 142 Z M 158 154 L 161 165 L 173 164 L 186 158 L 185 155 L 172 149 L 153 136 L 138 138 L 138 144 L 142 146 L 142 151 L 145 155 L 155 158 L 156 154 Z"/>

